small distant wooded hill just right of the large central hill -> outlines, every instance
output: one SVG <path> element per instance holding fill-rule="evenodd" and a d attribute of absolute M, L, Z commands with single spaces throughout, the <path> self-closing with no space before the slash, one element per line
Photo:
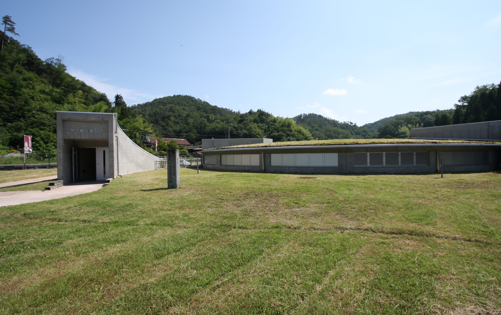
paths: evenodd
<path fill-rule="evenodd" d="M 371 131 L 364 126 L 357 126 L 356 123 L 340 122 L 316 113 L 300 114 L 293 119 L 300 126 L 310 130 L 313 138 L 319 140 L 373 138 L 377 134 L 377 132 Z"/>

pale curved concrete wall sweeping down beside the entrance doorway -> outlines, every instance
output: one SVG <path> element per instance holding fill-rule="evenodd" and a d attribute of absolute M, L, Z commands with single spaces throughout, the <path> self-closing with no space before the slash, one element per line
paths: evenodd
<path fill-rule="evenodd" d="M 115 135 L 116 145 L 118 146 L 115 167 L 117 174 L 125 175 L 139 171 L 152 170 L 156 168 L 156 161 L 159 160 L 155 155 L 145 151 L 134 141 L 132 141 L 120 126 Z"/>

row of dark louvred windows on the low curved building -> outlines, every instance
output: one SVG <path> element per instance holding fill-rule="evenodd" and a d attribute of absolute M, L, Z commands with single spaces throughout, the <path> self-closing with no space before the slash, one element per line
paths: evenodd
<path fill-rule="evenodd" d="M 428 152 L 353 153 L 353 166 L 428 166 Z"/>

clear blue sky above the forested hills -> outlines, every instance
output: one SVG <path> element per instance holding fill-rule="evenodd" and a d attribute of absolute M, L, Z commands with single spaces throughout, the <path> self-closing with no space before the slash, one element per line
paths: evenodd
<path fill-rule="evenodd" d="M 501 80 L 501 1 L 8 1 L 40 58 L 128 104 L 188 94 L 362 125 Z"/>

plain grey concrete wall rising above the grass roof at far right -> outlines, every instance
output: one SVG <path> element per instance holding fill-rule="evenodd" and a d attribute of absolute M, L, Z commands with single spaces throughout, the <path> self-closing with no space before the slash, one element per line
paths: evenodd
<path fill-rule="evenodd" d="M 413 128 L 411 138 L 501 140 L 501 120 Z"/>

